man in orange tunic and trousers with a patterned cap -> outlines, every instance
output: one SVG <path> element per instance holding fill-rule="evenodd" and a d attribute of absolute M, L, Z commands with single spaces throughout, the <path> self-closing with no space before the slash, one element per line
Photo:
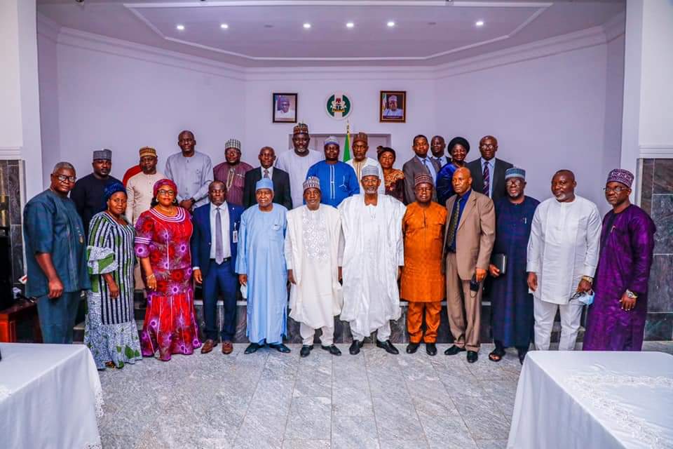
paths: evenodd
<path fill-rule="evenodd" d="M 421 340 L 430 356 L 437 354 L 437 329 L 446 288 L 442 273 L 442 242 L 447 209 L 433 202 L 433 178 L 428 173 L 414 177 L 416 201 L 407 206 L 402 220 L 405 267 L 402 269 L 402 299 L 409 301 L 407 353 L 419 349 Z M 423 335 L 423 311 L 426 331 Z"/>

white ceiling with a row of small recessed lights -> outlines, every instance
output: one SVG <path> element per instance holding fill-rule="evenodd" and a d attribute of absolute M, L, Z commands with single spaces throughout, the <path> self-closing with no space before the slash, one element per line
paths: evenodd
<path fill-rule="evenodd" d="M 596 27 L 624 10 L 623 0 L 38 0 L 63 27 L 243 67 L 440 65 Z"/>

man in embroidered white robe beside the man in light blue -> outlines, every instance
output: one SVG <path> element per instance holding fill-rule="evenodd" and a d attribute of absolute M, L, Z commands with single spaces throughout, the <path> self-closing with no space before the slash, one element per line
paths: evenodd
<path fill-rule="evenodd" d="M 304 201 L 287 213 L 285 261 L 290 290 L 290 317 L 299 321 L 302 357 L 311 354 L 315 329 L 322 329 L 320 347 L 340 356 L 334 346 L 334 316 L 339 315 L 341 292 L 341 260 L 339 211 L 320 204 L 320 179 L 315 176 L 304 182 Z"/>

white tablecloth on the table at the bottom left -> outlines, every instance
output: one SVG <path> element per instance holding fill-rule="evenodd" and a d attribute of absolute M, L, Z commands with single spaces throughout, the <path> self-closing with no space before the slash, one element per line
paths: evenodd
<path fill-rule="evenodd" d="M 100 448 L 102 393 L 83 344 L 0 343 L 0 447 Z"/>

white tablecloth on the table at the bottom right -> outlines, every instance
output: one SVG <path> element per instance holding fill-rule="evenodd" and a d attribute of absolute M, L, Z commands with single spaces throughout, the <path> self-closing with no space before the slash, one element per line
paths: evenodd
<path fill-rule="evenodd" d="M 673 356 L 531 351 L 508 448 L 673 448 Z"/>

